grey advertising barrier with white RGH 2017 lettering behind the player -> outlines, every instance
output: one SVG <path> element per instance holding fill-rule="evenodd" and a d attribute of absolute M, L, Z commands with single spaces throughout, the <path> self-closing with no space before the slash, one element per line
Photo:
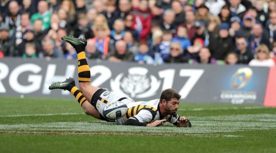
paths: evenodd
<path fill-rule="evenodd" d="M 55 81 L 74 77 L 77 60 L 0 58 L 0 95 L 72 98 L 68 91 L 49 90 Z M 91 84 L 129 95 L 134 100 L 159 98 L 174 88 L 182 102 L 220 102 L 276 106 L 275 67 L 248 65 L 149 65 L 88 60 Z M 268 82 L 268 83 L 267 83 Z"/>

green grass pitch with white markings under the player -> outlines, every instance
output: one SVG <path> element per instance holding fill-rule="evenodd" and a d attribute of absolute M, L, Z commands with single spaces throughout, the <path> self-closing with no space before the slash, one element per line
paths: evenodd
<path fill-rule="evenodd" d="M 276 152 L 276 107 L 181 102 L 192 127 L 117 125 L 72 99 L 0 97 L 1 152 Z"/>

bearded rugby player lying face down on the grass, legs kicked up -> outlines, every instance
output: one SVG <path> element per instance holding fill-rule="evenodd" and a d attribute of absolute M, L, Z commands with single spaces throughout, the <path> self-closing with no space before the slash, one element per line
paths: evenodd
<path fill-rule="evenodd" d="M 191 127 L 189 118 L 179 116 L 176 111 L 181 95 L 174 89 L 162 91 L 160 99 L 134 102 L 127 95 L 107 91 L 90 84 L 90 68 L 86 61 L 84 49 L 87 41 L 73 36 L 63 36 L 62 40 L 69 42 L 78 53 L 78 89 L 73 78 L 63 82 L 55 82 L 49 89 L 65 89 L 70 91 L 82 106 L 84 112 L 95 118 L 113 121 L 124 125 L 159 126 L 169 121 L 180 127 Z M 118 119 L 108 119 L 103 116 L 103 108 L 113 101 L 122 101 L 127 105 L 126 114 Z"/>

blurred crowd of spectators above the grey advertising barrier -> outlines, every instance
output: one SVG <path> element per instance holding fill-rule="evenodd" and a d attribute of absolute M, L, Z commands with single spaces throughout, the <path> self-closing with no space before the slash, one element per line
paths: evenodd
<path fill-rule="evenodd" d="M 0 57 L 275 65 L 276 0 L 1 0 Z"/>

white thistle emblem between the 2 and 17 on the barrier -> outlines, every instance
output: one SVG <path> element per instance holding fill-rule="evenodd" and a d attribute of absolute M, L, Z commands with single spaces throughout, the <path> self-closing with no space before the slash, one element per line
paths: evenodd
<path fill-rule="evenodd" d="M 127 76 L 119 73 L 114 80 L 110 80 L 111 89 L 136 98 L 152 96 L 156 94 L 161 81 L 154 75 L 148 76 L 148 71 L 145 67 L 131 67 Z"/>

